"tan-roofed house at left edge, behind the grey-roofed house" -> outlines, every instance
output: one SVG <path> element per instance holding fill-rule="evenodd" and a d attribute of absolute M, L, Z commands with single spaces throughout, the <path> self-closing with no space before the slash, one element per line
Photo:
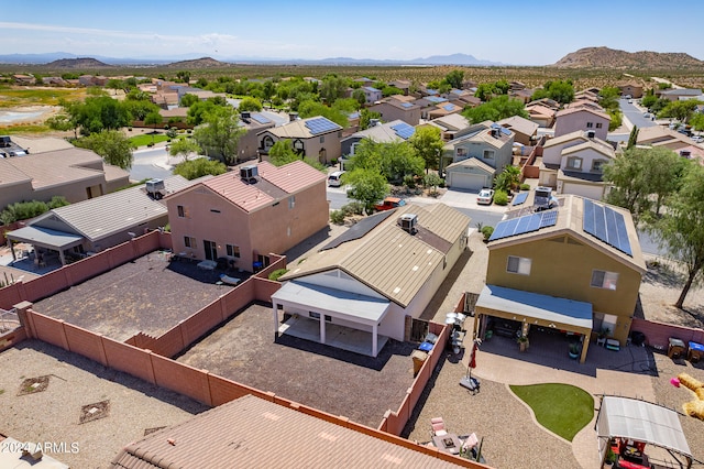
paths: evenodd
<path fill-rule="evenodd" d="M 48 201 L 54 196 L 73 204 L 113 192 L 130 181 L 127 171 L 63 139 L 12 135 L 3 144 L 8 146 L 0 152 L 18 156 L 0 157 L 0 209 L 23 200 Z"/>

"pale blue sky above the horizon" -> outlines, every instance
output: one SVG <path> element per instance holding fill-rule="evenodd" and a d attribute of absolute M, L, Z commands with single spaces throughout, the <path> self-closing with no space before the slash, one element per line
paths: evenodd
<path fill-rule="evenodd" d="M 505 64 L 547 65 L 579 48 L 603 45 L 684 52 L 704 59 L 701 28 L 694 28 L 694 19 L 704 18 L 701 0 L 592 0 L 580 7 L 569 0 L 4 3 L 0 54 L 411 59 L 463 53 Z"/>

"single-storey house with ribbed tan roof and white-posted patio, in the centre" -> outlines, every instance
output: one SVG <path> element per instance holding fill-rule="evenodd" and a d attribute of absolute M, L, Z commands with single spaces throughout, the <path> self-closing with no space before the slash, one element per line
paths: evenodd
<path fill-rule="evenodd" d="M 418 318 L 466 248 L 470 218 L 443 204 L 405 205 L 370 216 L 304 262 L 292 265 L 272 295 L 279 314 L 354 329 L 376 357 L 388 338 L 406 340 L 407 317 Z M 331 343 L 332 345 L 332 343 Z"/>

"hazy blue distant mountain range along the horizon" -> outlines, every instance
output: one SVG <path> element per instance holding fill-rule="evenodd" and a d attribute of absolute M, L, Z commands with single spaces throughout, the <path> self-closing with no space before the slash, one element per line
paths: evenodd
<path fill-rule="evenodd" d="M 166 65 L 173 63 L 186 63 L 193 59 L 199 59 L 206 54 L 188 54 L 183 56 L 168 57 L 136 57 L 136 58 L 118 58 L 95 55 L 90 58 L 100 64 L 100 67 L 110 66 L 136 66 L 136 65 Z M 64 62 L 66 59 L 76 59 L 75 63 Z M 84 59 L 75 54 L 67 52 L 53 52 L 46 54 L 2 54 L 0 55 L 0 64 L 18 64 L 18 65 L 52 65 L 56 67 L 79 68 L 76 65 L 77 59 Z M 466 65 L 466 66 L 491 66 L 504 65 L 498 62 L 491 62 L 475 58 L 468 54 L 451 55 L 433 55 L 425 58 L 414 58 L 411 61 L 397 59 L 375 59 L 375 58 L 352 58 L 352 57 L 331 57 L 321 59 L 306 58 L 266 58 L 266 57 L 215 57 L 212 61 L 221 63 L 222 66 L 228 64 L 301 64 L 301 65 Z M 213 66 L 213 65 L 211 65 Z M 87 67 L 88 68 L 88 67 Z"/>

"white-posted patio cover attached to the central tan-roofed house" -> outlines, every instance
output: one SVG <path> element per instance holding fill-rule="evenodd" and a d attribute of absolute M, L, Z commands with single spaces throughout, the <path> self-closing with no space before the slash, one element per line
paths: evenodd
<path fill-rule="evenodd" d="M 378 326 L 386 316 L 391 302 L 341 290 L 302 282 L 287 282 L 272 295 L 274 332 L 278 335 L 278 308 L 307 312 L 320 323 L 318 341 L 326 341 L 327 323 L 372 332 L 372 357 L 378 355 Z M 359 327 L 354 327 L 359 326 Z M 334 346 L 334 341 L 328 343 Z"/>

